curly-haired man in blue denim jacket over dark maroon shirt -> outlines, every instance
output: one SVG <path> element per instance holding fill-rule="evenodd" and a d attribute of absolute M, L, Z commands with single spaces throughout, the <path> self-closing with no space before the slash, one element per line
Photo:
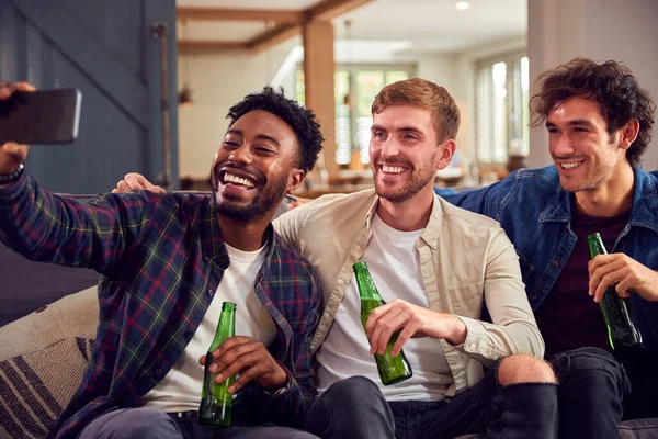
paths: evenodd
<path fill-rule="evenodd" d="M 554 165 L 521 169 L 476 191 L 438 192 L 498 221 L 514 243 L 554 367 L 590 358 L 592 367 L 604 368 L 586 347 L 614 353 L 631 381 L 623 418 L 658 417 L 658 172 L 639 167 L 656 105 L 631 70 L 613 60 L 575 58 L 537 83 L 533 124 L 545 124 Z M 587 235 L 597 232 L 610 254 L 590 261 Z M 611 348 L 597 305 L 611 286 L 627 297 L 643 347 Z M 560 410 L 560 419 L 581 417 L 583 409 L 598 408 L 580 404 Z"/>

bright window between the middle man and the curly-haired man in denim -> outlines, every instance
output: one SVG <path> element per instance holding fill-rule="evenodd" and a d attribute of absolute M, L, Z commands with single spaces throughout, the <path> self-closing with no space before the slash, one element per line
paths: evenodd
<path fill-rule="evenodd" d="M 529 71 L 523 54 L 478 63 L 476 86 L 479 164 L 500 164 L 527 156 Z"/>

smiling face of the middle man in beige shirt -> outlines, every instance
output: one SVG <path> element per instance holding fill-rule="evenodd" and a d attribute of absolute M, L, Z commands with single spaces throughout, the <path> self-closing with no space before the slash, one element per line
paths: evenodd
<path fill-rule="evenodd" d="M 449 142 L 439 145 L 432 112 L 424 108 L 389 105 L 375 113 L 370 158 L 377 194 L 401 203 L 431 191 L 436 170 L 452 158 L 452 150 L 445 154 Z"/>

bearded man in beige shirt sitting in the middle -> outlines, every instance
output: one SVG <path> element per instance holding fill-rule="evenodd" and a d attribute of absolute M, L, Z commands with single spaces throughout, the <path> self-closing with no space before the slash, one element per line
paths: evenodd
<path fill-rule="evenodd" d="M 558 385 L 538 358 L 543 340 L 511 243 L 497 223 L 432 191 L 455 149 L 452 97 L 422 79 L 399 81 L 377 94 L 372 113 L 375 189 L 326 195 L 274 222 L 318 270 L 325 294 L 311 344 L 320 396 L 307 429 L 324 438 L 616 437 L 621 370 L 577 358 Z M 118 187 L 145 183 L 128 175 Z M 366 333 L 352 275 L 359 260 L 388 302 L 373 312 Z M 485 305 L 490 322 L 481 320 Z M 373 353 L 383 353 L 396 331 L 392 353 L 404 347 L 413 376 L 384 386 Z M 598 412 L 559 419 L 558 410 L 578 412 L 580 403 Z"/>

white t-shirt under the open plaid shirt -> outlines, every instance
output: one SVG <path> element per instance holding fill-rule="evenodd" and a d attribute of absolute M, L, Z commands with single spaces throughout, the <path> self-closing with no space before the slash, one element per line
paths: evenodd
<path fill-rule="evenodd" d="M 256 251 L 241 251 L 229 245 L 226 248 L 230 264 L 215 297 L 181 358 L 141 399 L 148 407 L 163 412 L 198 409 L 203 387 L 203 367 L 198 359 L 207 353 L 213 342 L 224 302 L 236 303 L 236 335 L 253 337 L 265 346 L 270 346 L 276 336 L 274 320 L 253 291 L 268 246 Z"/>

